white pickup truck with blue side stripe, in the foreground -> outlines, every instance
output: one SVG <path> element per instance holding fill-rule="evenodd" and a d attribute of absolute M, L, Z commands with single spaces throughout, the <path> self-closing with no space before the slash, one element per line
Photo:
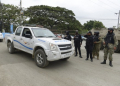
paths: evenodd
<path fill-rule="evenodd" d="M 74 53 L 71 41 L 40 27 L 19 26 L 14 34 L 5 35 L 5 42 L 9 53 L 16 49 L 30 53 L 39 67 L 46 67 L 49 61 L 67 60 Z"/>

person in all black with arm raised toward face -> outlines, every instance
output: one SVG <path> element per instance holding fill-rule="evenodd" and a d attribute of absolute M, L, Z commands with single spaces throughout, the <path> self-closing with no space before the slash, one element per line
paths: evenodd
<path fill-rule="evenodd" d="M 84 37 L 86 37 L 86 51 L 87 51 L 87 58 L 86 60 L 88 60 L 89 55 L 90 55 L 90 59 L 91 62 L 93 62 L 93 58 L 92 58 L 92 50 L 93 50 L 93 36 L 92 36 L 92 32 L 89 31 Z"/>

